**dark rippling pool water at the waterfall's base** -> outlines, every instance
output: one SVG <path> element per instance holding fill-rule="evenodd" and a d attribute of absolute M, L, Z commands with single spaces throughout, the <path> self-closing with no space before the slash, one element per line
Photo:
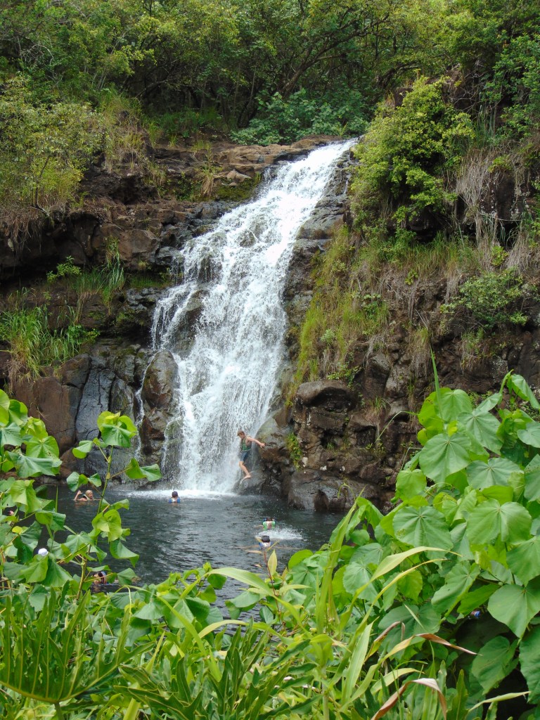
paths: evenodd
<path fill-rule="evenodd" d="M 228 565 L 257 572 L 256 534 L 261 534 L 265 516 L 276 519 L 276 528 L 265 531 L 276 541 L 278 572 L 294 552 L 318 550 L 330 538 L 341 516 L 292 510 L 279 498 L 263 495 L 197 495 L 180 492 L 181 503 L 167 502 L 171 490 L 129 490 L 107 492 L 109 503 L 130 501 L 121 510 L 122 525 L 131 529 L 127 546 L 140 554 L 135 568 L 143 582 L 161 582 L 170 572 L 184 572 L 210 562 L 212 567 Z M 97 503 L 73 503 L 73 493 L 59 491 L 60 512 L 76 531 L 89 530 Z M 111 567 L 114 561 L 107 558 Z M 125 567 L 125 563 L 122 563 Z"/>

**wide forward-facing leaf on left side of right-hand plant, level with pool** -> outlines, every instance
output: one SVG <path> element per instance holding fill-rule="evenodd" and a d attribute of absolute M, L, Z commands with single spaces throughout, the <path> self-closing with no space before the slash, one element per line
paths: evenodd
<path fill-rule="evenodd" d="M 415 547 L 426 545 L 450 549 L 452 546 L 444 516 L 429 505 L 399 508 L 394 516 L 394 532 L 398 540 Z"/>

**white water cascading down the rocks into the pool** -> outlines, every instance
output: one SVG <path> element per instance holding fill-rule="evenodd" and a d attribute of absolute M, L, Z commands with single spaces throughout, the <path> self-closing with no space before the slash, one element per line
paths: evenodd
<path fill-rule="evenodd" d="M 282 291 L 294 238 L 351 144 L 282 166 L 253 202 L 182 251 L 184 280 L 156 307 L 153 345 L 170 350 L 179 367 L 162 466 L 184 490 L 227 492 L 240 478 L 238 429 L 253 434 L 261 426 L 282 364 Z M 178 338 L 197 305 L 197 334 L 183 356 Z"/>

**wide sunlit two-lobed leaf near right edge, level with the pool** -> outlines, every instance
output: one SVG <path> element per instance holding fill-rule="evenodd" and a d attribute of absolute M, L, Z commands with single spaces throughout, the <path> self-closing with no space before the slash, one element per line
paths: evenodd
<path fill-rule="evenodd" d="M 532 518 L 523 505 L 485 500 L 469 513 L 467 537 L 472 545 L 490 544 L 495 539 L 515 543 L 528 540 Z"/>

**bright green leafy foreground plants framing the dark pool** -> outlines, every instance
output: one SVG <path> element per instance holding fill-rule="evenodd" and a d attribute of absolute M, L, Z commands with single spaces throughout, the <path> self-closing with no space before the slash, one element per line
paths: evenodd
<path fill-rule="evenodd" d="M 99 435 L 74 449 L 104 459 L 103 485 L 68 478 L 72 490 L 102 487 L 92 528 L 74 532 L 31 479 L 58 472 L 58 446 L 0 392 L 1 469 L 17 474 L 0 486 L 2 716 L 473 720 L 517 702 L 507 716 L 533 719 L 539 410 L 516 374 L 476 406 L 436 385 L 389 515 L 358 498 L 328 545 L 282 572 L 261 551 L 265 577 L 206 565 L 129 587 L 132 570 L 111 572 L 103 543 L 135 563 L 127 503 L 104 497 L 131 421 L 102 413 Z M 159 477 L 135 460 L 119 472 Z M 102 569 L 117 589 L 89 593 Z M 215 605 L 226 577 L 246 585 L 229 618 Z"/>

